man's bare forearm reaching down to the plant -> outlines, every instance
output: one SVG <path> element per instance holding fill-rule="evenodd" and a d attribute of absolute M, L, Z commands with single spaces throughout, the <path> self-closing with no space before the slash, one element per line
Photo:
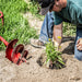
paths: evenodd
<path fill-rule="evenodd" d="M 56 46 L 60 46 L 62 39 L 62 23 L 59 25 L 54 25 L 54 42 Z"/>

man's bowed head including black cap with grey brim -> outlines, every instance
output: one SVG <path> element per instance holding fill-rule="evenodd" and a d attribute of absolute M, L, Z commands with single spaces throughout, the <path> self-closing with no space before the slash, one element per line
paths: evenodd
<path fill-rule="evenodd" d="M 38 3 L 40 4 L 40 13 L 46 14 L 48 11 L 61 11 L 62 8 L 65 8 L 65 1 L 66 0 L 38 0 Z"/>

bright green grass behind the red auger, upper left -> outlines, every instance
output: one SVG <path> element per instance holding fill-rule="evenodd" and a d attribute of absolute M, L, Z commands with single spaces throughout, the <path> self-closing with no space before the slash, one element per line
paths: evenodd
<path fill-rule="evenodd" d="M 27 44 L 31 37 L 37 37 L 36 31 L 28 25 L 28 21 L 21 13 L 27 11 L 27 4 L 23 0 L 0 0 L 0 11 L 4 15 L 4 25 L 0 20 L 0 36 L 8 42 L 17 38 L 19 44 Z M 0 47 L 4 45 L 0 42 Z"/>

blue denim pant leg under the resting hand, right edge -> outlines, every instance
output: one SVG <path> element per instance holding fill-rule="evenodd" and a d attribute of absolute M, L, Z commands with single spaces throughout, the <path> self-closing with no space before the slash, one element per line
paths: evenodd
<path fill-rule="evenodd" d="M 82 51 L 77 49 L 77 42 L 79 38 L 82 38 L 82 25 L 77 27 L 77 37 L 75 37 L 75 46 L 74 46 L 74 57 L 78 60 L 82 60 Z"/>

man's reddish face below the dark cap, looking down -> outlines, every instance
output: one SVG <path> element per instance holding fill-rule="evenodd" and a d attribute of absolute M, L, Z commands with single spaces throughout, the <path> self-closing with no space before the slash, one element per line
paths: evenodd
<path fill-rule="evenodd" d="M 55 4 L 52 7 L 52 11 L 59 12 L 63 7 L 62 0 L 55 0 Z"/>

